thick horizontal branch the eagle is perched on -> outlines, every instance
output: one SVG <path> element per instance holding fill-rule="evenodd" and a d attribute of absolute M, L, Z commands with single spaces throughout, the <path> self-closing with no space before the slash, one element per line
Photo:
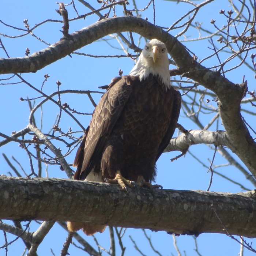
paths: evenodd
<path fill-rule="evenodd" d="M 78 221 L 256 237 L 256 192 L 129 189 L 54 178 L 0 177 L 0 219 Z"/>

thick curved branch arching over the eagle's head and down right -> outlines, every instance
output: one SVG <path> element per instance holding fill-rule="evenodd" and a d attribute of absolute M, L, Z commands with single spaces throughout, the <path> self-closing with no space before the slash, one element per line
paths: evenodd
<path fill-rule="evenodd" d="M 157 38 L 164 42 L 183 76 L 199 82 L 217 94 L 220 116 L 227 132 L 230 150 L 237 154 L 256 176 L 256 143 L 240 113 L 241 99 L 247 89 L 246 83 L 234 84 L 219 72 L 200 65 L 175 37 L 141 18 L 124 16 L 103 19 L 29 57 L 0 59 L 0 74 L 36 72 L 97 39 L 123 31 L 132 31 L 149 39 Z"/>

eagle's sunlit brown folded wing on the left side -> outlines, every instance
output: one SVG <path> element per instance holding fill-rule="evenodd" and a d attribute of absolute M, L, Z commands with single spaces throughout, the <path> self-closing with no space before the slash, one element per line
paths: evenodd
<path fill-rule="evenodd" d="M 89 127 L 86 129 L 83 141 L 75 157 L 74 167 L 77 167 L 74 179 L 84 180 L 93 168 L 99 171 L 102 151 L 116 121 L 131 94 L 132 78 L 123 76 L 114 80 L 109 89 L 96 106 Z"/>

